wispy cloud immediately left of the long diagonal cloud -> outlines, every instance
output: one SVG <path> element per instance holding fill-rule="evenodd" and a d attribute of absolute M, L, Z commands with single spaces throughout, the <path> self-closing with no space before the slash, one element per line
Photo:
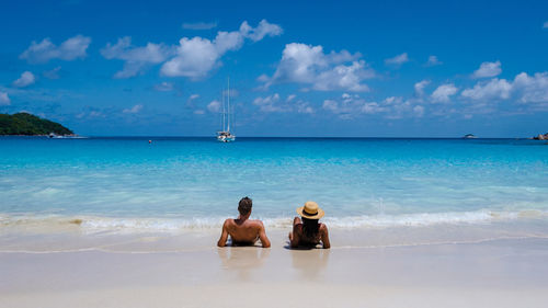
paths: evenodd
<path fill-rule="evenodd" d="M 144 47 L 133 46 L 129 36 L 118 38 L 114 45 L 109 43 L 101 49 L 101 55 L 106 59 L 125 61 L 124 69 L 116 72 L 114 78 L 134 77 L 150 65 L 163 62 L 172 54 L 173 48 L 163 44 L 148 43 Z"/>

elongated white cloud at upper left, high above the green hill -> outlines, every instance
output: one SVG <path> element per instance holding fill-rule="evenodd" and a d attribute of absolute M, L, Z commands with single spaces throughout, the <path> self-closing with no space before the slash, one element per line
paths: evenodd
<path fill-rule="evenodd" d="M 33 41 L 31 46 L 19 57 L 30 64 L 47 62 L 50 59 L 61 59 L 71 61 L 87 56 L 85 50 L 91 43 L 88 36 L 77 35 L 56 46 L 49 38 L 44 38 L 41 43 Z"/>

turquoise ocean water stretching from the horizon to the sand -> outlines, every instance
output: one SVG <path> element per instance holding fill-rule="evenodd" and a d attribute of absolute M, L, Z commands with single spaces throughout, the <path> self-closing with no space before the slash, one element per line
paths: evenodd
<path fill-rule="evenodd" d="M 152 142 L 149 144 L 148 140 Z M 316 201 L 332 228 L 481 225 L 548 217 L 548 145 L 515 139 L 0 137 L 0 228 L 287 227 Z M 76 219 L 76 220 L 75 220 Z"/>

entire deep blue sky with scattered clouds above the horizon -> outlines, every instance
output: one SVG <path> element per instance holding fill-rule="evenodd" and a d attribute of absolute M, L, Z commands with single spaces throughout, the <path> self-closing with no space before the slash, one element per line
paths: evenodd
<path fill-rule="evenodd" d="M 548 130 L 546 1 L 11 1 L 0 113 L 80 135 Z"/>

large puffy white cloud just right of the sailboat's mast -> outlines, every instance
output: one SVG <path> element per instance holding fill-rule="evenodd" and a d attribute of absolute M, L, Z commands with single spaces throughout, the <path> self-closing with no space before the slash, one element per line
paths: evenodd
<path fill-rule="evenodd" d="M 261 76 L 260 80 L 265 81 L 264 88 L 276 82 L 297 82 L 319 91 L 365 92 L 369 88 L 363 80 L 374 77 L 374 72 L 359 57 L 346 50 L 324 54 L 320 45 L 290 43 L 285 46 L 273 77 Z"/>

